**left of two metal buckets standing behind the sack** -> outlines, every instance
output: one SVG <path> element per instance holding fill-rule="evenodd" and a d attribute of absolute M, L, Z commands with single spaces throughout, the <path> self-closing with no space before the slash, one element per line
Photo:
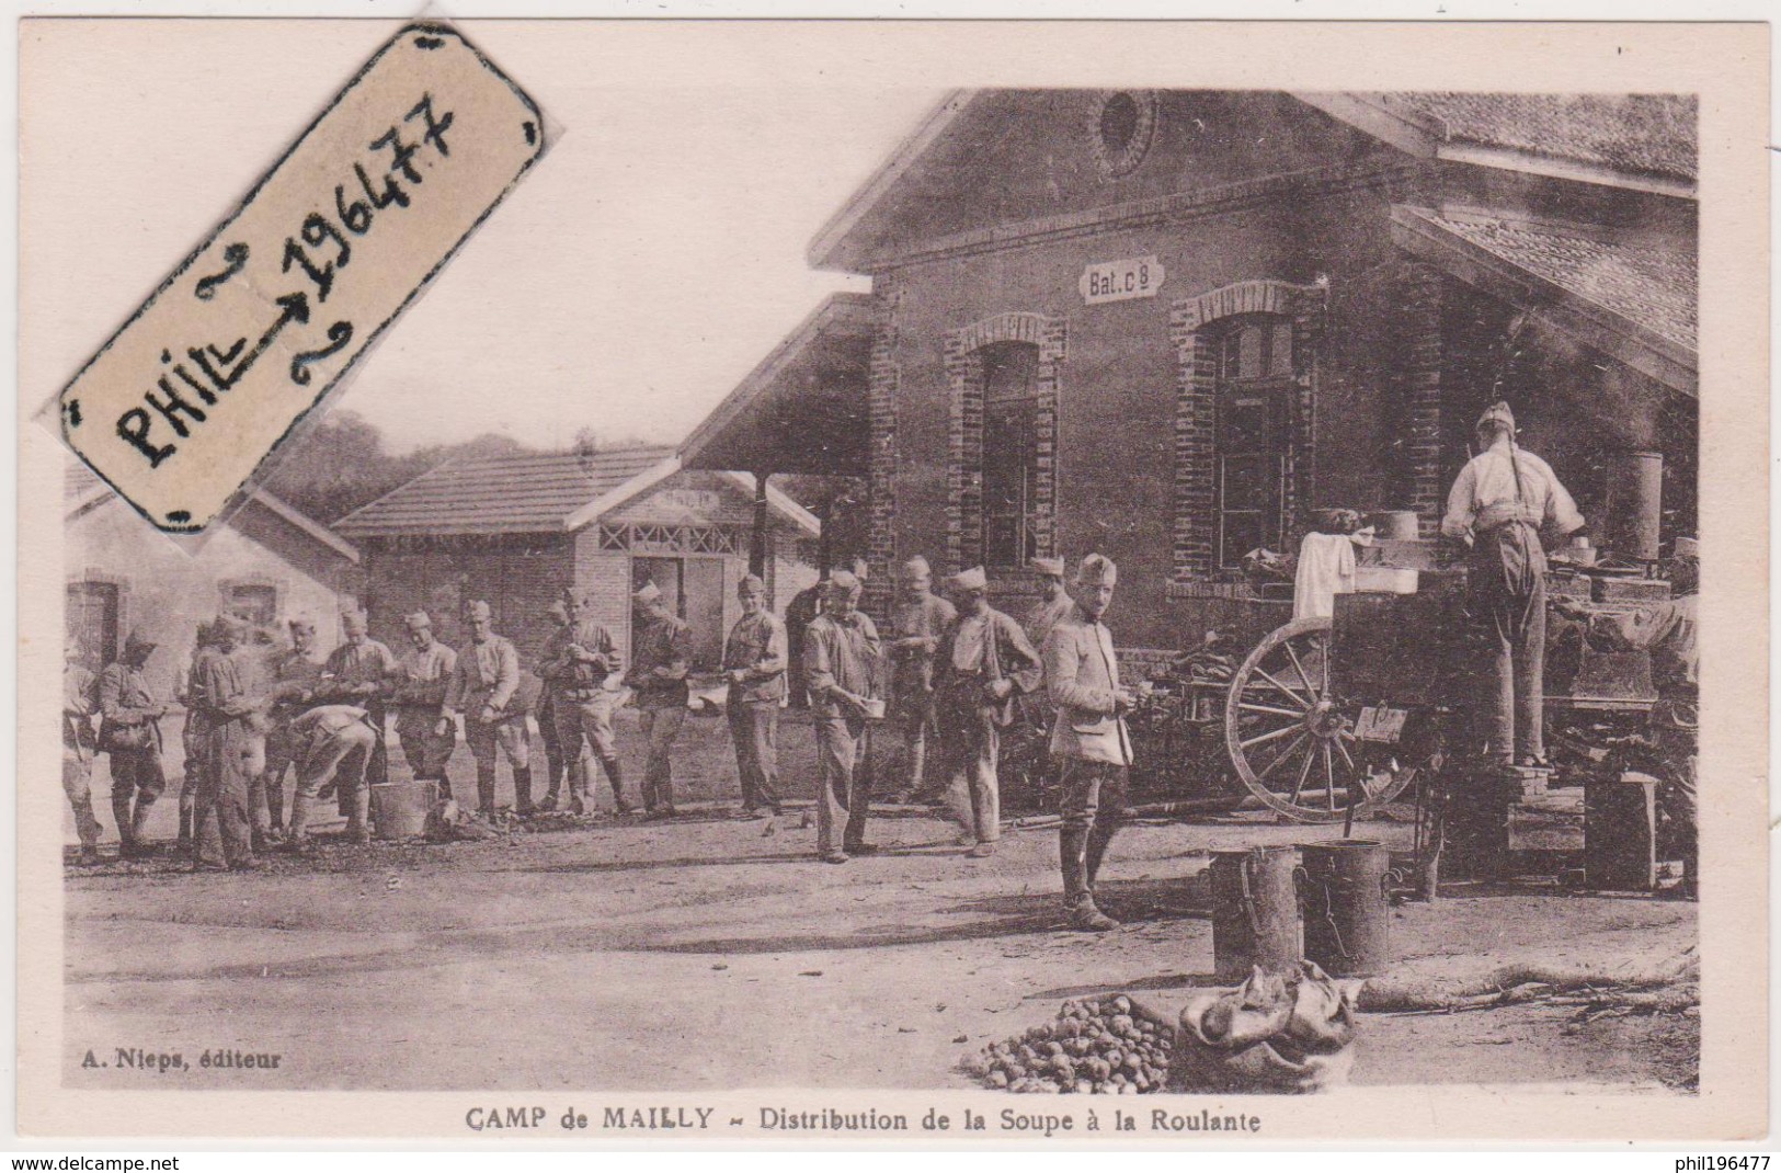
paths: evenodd
<path fill-rule="evenodd" d="M 1213 973 L 1240 982 L 1250 968 L 1298 973 L 1298 891 L 1291 847 L 1213 852 Z"/>

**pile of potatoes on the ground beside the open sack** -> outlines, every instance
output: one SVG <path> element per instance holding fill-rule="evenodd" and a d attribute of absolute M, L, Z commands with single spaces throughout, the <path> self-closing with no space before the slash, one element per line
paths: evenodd
<path fill-rule="evenodd" d="M 1054 1021 L 965 1055 L 985 1087 L 1021 1093 L 1163 1091 L 1172 1030 L 1133 1014 L 1131 998 L 1065 1002 Z"/>

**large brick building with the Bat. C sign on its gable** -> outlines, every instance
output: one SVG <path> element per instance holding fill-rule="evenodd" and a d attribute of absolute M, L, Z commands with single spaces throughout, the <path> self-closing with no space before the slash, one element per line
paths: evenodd
<path fill-rule="evenodd" d="M 869 478 L 889 569 L 1122 567 L 1115 629 L 1286 619 L 1240 570 L 1313 508 L 1434 533 L 1480 410 L 1590 517 L 1658 453 L 1694 528 L 1696 111 L 1683 96 L 964 91 L 810 246 L 817 308 L 686 467 Z M 819 444 L 812 444 L 819 437 Z"/>

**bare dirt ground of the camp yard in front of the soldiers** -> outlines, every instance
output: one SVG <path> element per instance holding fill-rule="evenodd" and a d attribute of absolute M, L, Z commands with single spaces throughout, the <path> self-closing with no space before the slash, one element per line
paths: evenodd
<path fill-rule="evenodd" d="M 809 793 L 809 731 L 785 734 L 791 792 Z M 622 738 L 638 761 L 629 724 Z M 1261 818 L 1127 827 L 1102 875 L 1127 923 L 1086 936 L 1060 931 L 1049 827 L 1015 825 L 997 856 L 967 859 L 940 818 L 887 808 L 871 829 L 883 852 L 830 866 L 801 811 L 728 816 L 721 722 L 687 722 L 684 751 L 689 797 L 668 824 L 540 818 L 479 843 L 329 843 L 256 874 L 194 875 L 171 852 L 69 866 L 66 1082 L 239 1089 L 240 1071 L 196 1062 L 223 1048 L 281 1055 L 255 1087 L 958 1087 L 960 1054 L 1065 998 L 1143 991 L 1172 1011 L 1208 984 L 1209 850 L 1339 834 Z M 463 749 L 452 775 L 470 777 Z M 105 788 L 102 770 L 110 825 Z M 175 829 L 169 793 L 151 834 Z M 1411 829 L 1364 833 L 1407 847 Z M 1694 943 L 1692 904 L 1642 897 L 1523 886 L 1391 911 L 1393 975 L 1455 984 L 1528 959 L 1637 972 Z M 180 1052 L 189 1070 L 82 1066 L 89 1048 L 112 1062 L 130 1046 Z M 1685 1091 L 1699 1020 L 1585 1021 L 1549 1004 L 1370 1013 L 1359 1048 L 1362 1084 Z"/>

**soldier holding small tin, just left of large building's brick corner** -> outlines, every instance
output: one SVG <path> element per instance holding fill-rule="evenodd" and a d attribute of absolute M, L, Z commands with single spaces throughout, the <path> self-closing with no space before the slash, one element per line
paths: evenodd
<path fill-rule="evenodd" d="M 848 570 L 828 578 L 828 608 L 805 633 L 803 669 L 816 720 L 816 850 L 823 863 L 846 863 L 874 850 L 866 841 L 871 795 L 855 784 L 866 745 L 866 720 L 878 699 L 878 628 L 860 613 L 860 579 Z M 835 825 L 846 820 L 841 843 Z"/>

